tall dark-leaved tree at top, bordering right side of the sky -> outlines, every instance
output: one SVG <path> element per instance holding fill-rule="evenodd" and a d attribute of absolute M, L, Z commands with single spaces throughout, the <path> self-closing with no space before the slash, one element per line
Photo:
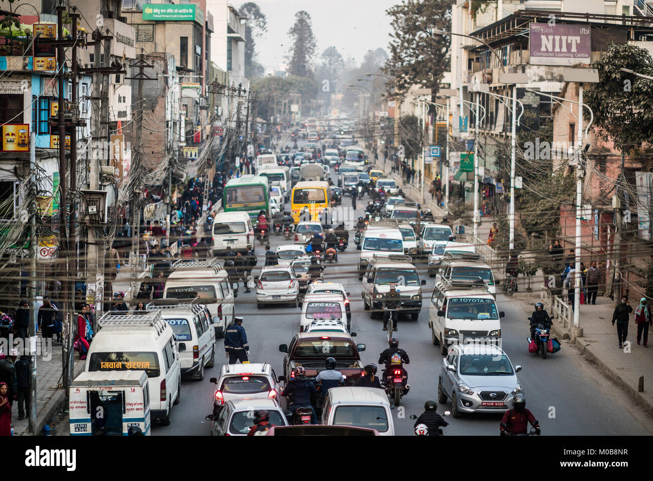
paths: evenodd
<path fill-rule="evenodd" d="M 386 10 L 390 24 L 390 58 L 383 71 L 394 78 L 396 93 L 406 95 L 420 84 L 436 94 L 439 82 L 449 69 L 449 35 L 434 29 L 451 30 L 452 0 L 404 0 Z"/>

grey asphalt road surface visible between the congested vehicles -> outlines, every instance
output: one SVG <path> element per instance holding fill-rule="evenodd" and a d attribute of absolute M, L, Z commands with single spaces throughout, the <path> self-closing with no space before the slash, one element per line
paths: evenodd
<path fill-rule="evenodd" d="M 357 214 L 353 218 L 360 215 L 361 206 L 368 200 L 365 197 L 358 202 Z M 343 205 L 351 205 L 349 197 L 345 197 Z M 353 241 L 353 233 L 350 238 Z M 273 248 L 281 242 L 283 237 L 271 239 Z M 262 250 L 257 246 L 258 253 Z M 339 254 L 339 260 L 338 264 L 328 265 L 325 269 L 325 280 L 342 282 L 351 292 L 352 330 L 358 333 L 357 342 L 366 344 L 362 361 L 376 362 L 379 352 L 387 347 L 387 343 L 385 333 L 381 331 L 381 320 L 371 320 L 369 314 L 362 310 L 361 284 L 355 272 L 358 254 L 353 242 L 344 254 Z M 260 263 L 261 261 L 259 265 Z M 408 419 L 408 415 L 420 414 L 426 399 L 436 399 L 442 359 L 438 347 L 431 344 L 427 325 L 428 299 L 434 280 L 428 278 L 424 264 L 419 267 L 423 270 L 422 278 L 427 280 L 423 288 L 425 308 L 417 321 L 402 316 L 397 333 L 400 346 L 411 357 L 411 363 L 407 365 L 411 391 L 402 399 L 402 406 L 406 408 L 405 416 L 394 419 L 396 433 L 399 435 L 411 435 L 413 422 Z M 547 359 L 529 354 L 526 345 L 528 313 L 514 299 L 499 295 L 497 300 L 498 308 L 505 311 L 502 320 L 503 349 L 513 364 L 522 365 L 522 372 L 518 376 L 524 386 L 528 408 L 539 420 L 544 435 L 653 433 L 653 422 L 639 412 L 624 393 L 584 361 L 577 350 L 563 347 Z M 236 312 L 245 318 L 243 326 L 251 346 L 251 361 L 270 362 L 275 371 L 281 373 L 283 354 L 278 352 L 278 345 L 288 343 L 298 332 L 300 309 L 283 306 L 257 310 L 254 291 L 244 294 L 241 290 Z M 183 382 L 182 401 L 172 410 L 172 424 L 168 427 L 155 425 L 153 435 L 209 435 L 210 425 L 204 416 L 212 412 L 214 385 L 208 378 L 219 374 L 221 361 L 224 362 L 224 358 L 217 357 L 216 366 L 206 371 L 203 382 Z M 440 405 L 438 412 L 450 408 L 449 405 Z M 395 416 L 398 414 L 400 412 L 396 410 Z M 450 425 L 445 428 L 445 434 L 497 435 L 500 417 L 500 414 L 468 415 L 456 420 L 450 417 L 447 418 Z"/>

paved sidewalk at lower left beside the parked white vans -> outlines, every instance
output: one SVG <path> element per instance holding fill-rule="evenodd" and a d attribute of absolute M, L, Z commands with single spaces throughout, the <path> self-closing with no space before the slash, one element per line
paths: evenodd
<path fill-rule="evenodd" d="M 43 427 L 50 421 L 50 418 L 65 403 L 67 393 L 61 388 L 61 346 L 54 346 L 52 358 L 44 361 L 42 356 L 37 356 L 37 425 L 36 433 L 40 435 Z M 76 378 L 84 370 L 84 361 L 74 355 L 73 378 Z M 31 436 L 29 432 L 29 421 L 18 420 L 18 403 L 14 401 L 11 410 L 11 423 L 14 428 L 14 436 Z"/>

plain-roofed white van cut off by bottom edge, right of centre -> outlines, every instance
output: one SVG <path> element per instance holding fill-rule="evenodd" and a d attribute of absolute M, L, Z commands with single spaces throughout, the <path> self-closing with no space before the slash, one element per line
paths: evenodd
<path fill-rule="evenodd" d="M 328 426 L 356 426 L 376 429 L 381 436 L 394 436 L 390 401 L 379 388 L 330 388 L 322 410 Z"/>

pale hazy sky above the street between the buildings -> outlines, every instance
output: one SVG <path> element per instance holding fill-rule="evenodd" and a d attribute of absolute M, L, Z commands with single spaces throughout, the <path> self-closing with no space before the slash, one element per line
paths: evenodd
<path fill-rule="evenodd" d="M 317 49 L 313 61 L 323 50 L 335 45 L 343 58 L 362 61 L 367 50 L 381 47 L 388 52 L 390 18 L 387 8 L 400 0 L 253 0 L 268 19 L 268 31 L 256 40 L 257 60 L 263 67 L 283 63 L 291 44 L 288 30 L 295 23 L 295 12 L 306 10 L 312 20 Z M 234 3 L 236 8 L 244 2 Z"/>

